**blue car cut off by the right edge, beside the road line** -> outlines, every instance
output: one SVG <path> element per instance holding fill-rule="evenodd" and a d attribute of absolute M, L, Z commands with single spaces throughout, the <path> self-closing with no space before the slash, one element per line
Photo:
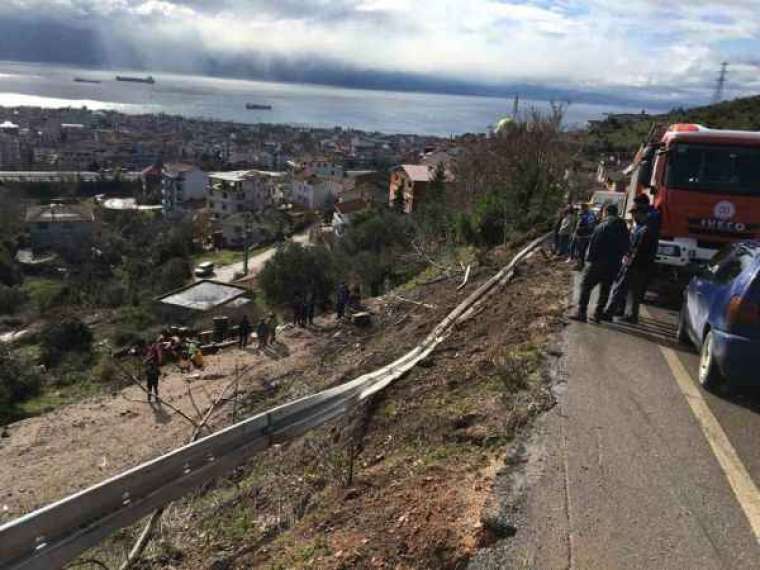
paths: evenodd
<path fill-rule="evenodd" d="M 678 340 L 700 350 L 705 389 L 760 385 L 760 241 L 727 246 L 691 280 Z"/>

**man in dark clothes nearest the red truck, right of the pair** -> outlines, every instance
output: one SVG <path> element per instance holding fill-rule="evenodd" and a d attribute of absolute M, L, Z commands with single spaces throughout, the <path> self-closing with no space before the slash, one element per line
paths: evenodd
<path fill-rule="evenodd" d="M 653 226 L 652 210 L 642 203 L 631 209 L 636 226 L 631 234 L 631 247 L 623 259 L 623 268 L 615 282 L 612 299 L 602 320 L 610 321 L 614 316 L 624 314 L 626 304 L 630 303 L 630 312 L 623 320 L 630 324 L 639 322 L 639 308 L 647 285 L 654 273 L 657 257 L 657 235 Z"/>

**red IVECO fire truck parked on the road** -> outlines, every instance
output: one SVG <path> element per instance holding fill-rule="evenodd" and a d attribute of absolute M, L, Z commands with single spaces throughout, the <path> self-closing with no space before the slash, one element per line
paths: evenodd
<path fill-rule="evenodd" d="M 659 210 L 660 265 L 694 268 L 760 236 L 760 132 L 676 124 L 654 134 L 629 167 L 627 205 L 646 193 Z"/>

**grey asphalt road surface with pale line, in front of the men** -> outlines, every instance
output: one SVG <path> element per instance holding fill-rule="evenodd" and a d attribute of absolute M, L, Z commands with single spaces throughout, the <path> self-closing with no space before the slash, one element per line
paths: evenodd
<path fill-rule="evenodd" d="M 473 567 L 760 568 L 760 392 L 706 393 L 675 313 L 646 315 L 567 328 L 507 499 L 517 534 Z"/>

